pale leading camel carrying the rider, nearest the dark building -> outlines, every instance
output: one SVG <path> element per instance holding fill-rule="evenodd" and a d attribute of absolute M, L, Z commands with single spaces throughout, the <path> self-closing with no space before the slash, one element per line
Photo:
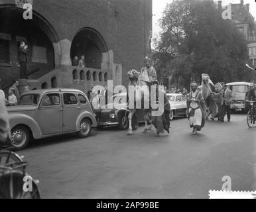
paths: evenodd
<path fill-rule="evenodd" d="M 131 135 L 133 134 L 133 125 L 132 123 L 135 123 L 133 119 L 136 119 L 135 114 L 136 113 L 145 113 L 144 115 L 144 121 L 145 121 L 145 129 L 143 133 L 148 133 L 151 130 L 151 127 L 148 127 L 148 120 L 149 120 L 149 113 L 151 112 L 150 105 L 149 105 L 149 96 L 150 96 L 150 88 L 149 85 L 145 81 L 142 81 L 139 79 L 140 72 L 137 72 L 137 70 L 130 70 L 127 73 L 129 77 L 129 86 L 135 87 L 135 98 L 134 98 L 134 109 L 129 108 L 129 129 L 127 134 Z M 129 92 L 128 92 L 129 93 Z M 148 98 L 147 98 L 148 97 Z M 144 99 L 148 99 L 147 105 L 149 105 L 149 108 L 144 108 Z M 129 101 L 132 101 L 129 99 Z M 141 102 L 141 108 L 137 108 L 138 103 Z"/>

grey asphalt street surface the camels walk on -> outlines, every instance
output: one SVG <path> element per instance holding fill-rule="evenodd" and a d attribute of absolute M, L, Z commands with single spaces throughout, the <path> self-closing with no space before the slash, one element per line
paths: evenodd
<path fill-rule="evenodd" d="M 94 129 L 88 138 L 68 134 L 33 142 L 18 152 L 40 181 L 42 198 L 208 198 L 231 177 L 233 191 L 256 189 L 255 135 L 246 115 L 230 123 L 206 121 L 192 135 L 176 118 L 170 134 Z"/>

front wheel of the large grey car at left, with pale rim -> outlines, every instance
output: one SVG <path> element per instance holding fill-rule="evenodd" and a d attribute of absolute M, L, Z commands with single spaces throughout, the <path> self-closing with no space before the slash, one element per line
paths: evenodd
<path fill-rule="evenodd" d="M 11 144 L 13 150 L 23 150 L 29 144 L 31 133 L 27 127 L 17 126 L 11 131 Z"/>

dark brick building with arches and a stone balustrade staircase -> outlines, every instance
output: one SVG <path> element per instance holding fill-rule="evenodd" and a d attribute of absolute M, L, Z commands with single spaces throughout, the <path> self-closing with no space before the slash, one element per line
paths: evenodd
<path fill-rule="evenodd" d="M 25 20 L 23 3 L 0 0 L 0 78 L 5 89 L 19 79 L 17 48 L 29 46 L 31 89 L 93 85 L 127 85 L 127 71 L 140 69 L 150 52 L 152 0 L 36 0 L 32 19 Z M 19 3 L 19 4 L 17 4 Z M 85 56 L 86 67 L 72 66 Z M 22 87 L 21 87 L 22 88 Z"/>

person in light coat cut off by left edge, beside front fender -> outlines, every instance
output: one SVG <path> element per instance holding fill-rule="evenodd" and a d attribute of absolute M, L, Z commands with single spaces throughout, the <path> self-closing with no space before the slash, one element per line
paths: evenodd
<path fill-rule="evenodd" d="M 5 145 L 11 139 L 11 130 L 3 94 L 0 95 L 0 123 L 0 144 Z"/>

